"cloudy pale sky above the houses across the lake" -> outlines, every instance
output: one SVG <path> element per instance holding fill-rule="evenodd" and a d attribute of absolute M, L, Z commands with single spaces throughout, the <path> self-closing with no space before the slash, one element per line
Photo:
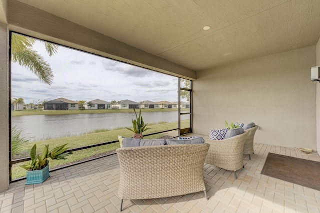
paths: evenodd
<path fill-rule="evenodd" d="M 25 104 L 56 98 L 177 101 L 177 77 L 63 46 L 49 56 L 40 41 L 32 48 L 48 62 L 54 78 L 47 85 L 29 69 L 12 63 L 11 98 L 23 98 Z"/>

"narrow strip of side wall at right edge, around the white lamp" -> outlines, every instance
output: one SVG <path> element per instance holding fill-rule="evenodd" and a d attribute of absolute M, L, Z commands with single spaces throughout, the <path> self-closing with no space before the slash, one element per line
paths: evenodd
<path fill-rule="evenodd" d="M 315 64 L 320 66 L 320 38 L 315 46 Z M 320 151 L 320 83 L 316 84 L 316 149 Z"/>

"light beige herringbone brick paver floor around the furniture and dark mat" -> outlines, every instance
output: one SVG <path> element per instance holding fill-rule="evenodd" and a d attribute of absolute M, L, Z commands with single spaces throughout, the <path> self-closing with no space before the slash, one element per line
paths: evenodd
<path fill-rule="evenodd" d="M 152 200 L 124 200 L 123 213 L 320 213 L 320 192 L 260 175 L 269 152 L 320 161 L 317 153 L 254 144 L 254 155 L 243 159 L 244 169 L 233 173 L 204 165 L 208 201 L 203 192 Z M 307 171 L 306 171 L 307 172 Z M 54 172 L 42 184 L 11 183 L 0 193 L 1 213 L 115 213 L 119 165 L 116 155 Z M 320 182 L 320 177 L 319 177 Z"/>

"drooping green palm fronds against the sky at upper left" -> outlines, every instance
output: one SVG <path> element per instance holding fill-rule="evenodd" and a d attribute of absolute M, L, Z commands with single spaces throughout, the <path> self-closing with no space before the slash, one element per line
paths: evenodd
<path fill-rule="evenodd" d="M 11 34 L 11 59 L 31 70 L 44 83 L 51 85 L 53 73 L 49 64 L 43 57 L 32 49 L 35 39 L 23 35 Z M 49 56 L 57 52 L 58 46 L 52 43 L 44 42 L 45 50 Z"/>

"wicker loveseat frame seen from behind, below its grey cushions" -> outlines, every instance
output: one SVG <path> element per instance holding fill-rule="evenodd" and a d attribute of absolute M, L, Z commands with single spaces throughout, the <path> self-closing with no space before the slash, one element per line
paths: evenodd
<path fill-rule="evenodd" d="M 121 199 L 165 198 L 203 191 L 209 144 L 118 148 Z"/>

